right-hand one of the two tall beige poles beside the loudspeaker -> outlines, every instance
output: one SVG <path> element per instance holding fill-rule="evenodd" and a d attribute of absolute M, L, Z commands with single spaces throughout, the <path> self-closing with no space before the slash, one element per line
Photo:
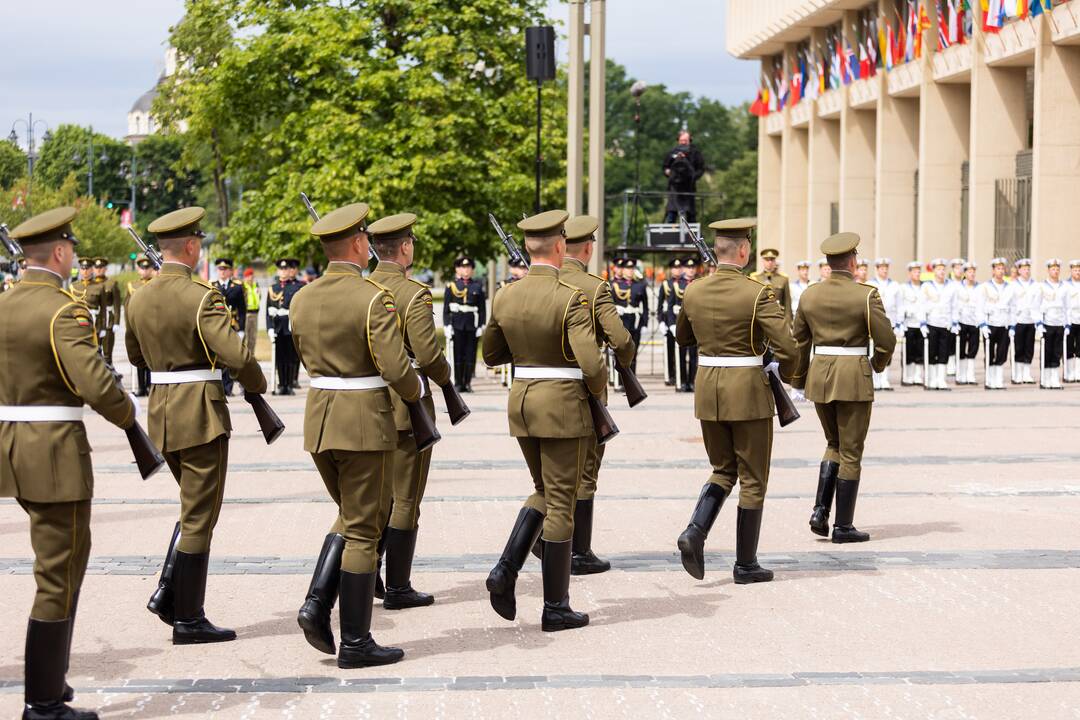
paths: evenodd
<path fill-rule="evenodd" d="M 604 261 L 604 123 L 607 111 L 607 51 L 604 44 L 605 0 L 592 0 L 589 15 L 589 213 L 600 220 L 589 269 L 599 274 Z"/>

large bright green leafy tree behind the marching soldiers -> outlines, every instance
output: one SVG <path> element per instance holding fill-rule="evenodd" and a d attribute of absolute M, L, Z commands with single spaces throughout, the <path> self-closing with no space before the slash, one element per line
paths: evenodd
<path fill-rule="evenodd" d="M 324 212 L 360 200 L 374 217 L 417 213 L 421 264 L 491 257 L 487 212 L 509 222 L 532 209 L 536 89 L 522 30 L 543 23 L 542 10 L 541 0 L 189 1 L 172 36 L 183 70 L 156 112 L 186 123 L 192 155 L 212 148 L 215 185 L 243 182 L 242 207 L 222 214 L 238 257 L 319 257 L 300 191 Z M 565 195 L 565 84 L 544 96 L 550 207 Z"/>

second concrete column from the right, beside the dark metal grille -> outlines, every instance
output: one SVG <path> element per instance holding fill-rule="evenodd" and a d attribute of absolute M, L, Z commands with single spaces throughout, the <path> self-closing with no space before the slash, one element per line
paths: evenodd
<path fill-rule="evenodd" d="M 994 257 L 994 182 L 1015 177 L 1016 153 L 1027 147 L 1026 71 L 986 65 L 986 38 L 978 23 L 973 41 L 969 228 L 971 255 L 985 268 Z"/>

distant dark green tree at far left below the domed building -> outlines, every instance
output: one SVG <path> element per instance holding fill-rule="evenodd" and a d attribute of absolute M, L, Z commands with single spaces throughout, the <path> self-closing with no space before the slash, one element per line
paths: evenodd
<path fill-rule="evenodd" d="M 60 125 L 41 146 L 41 157 L 33 165 L 35 191 L 40 186 L 60 188 L 75 174 L 79 194 L 89 195 L 91 131 L 79 125 Z M 125 202 L 130 195 L 123 165 L 131 148 L 108 135 L 93 133 L 94 198 L 100 202 Z"/>

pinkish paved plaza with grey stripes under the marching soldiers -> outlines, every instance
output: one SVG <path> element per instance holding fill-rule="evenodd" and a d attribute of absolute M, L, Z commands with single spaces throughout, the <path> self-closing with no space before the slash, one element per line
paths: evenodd
<path fill-rule="evenodd" d="M 679 563 L 675 538 L 708 474 L 691 398 L 650 381 L 632 411 L 613 396 L 623 432 L 608 447 L 594 533 L 613 570 L 571 581 L 588 628 L 548 635 L 535 560 L 516 622 L 487 602 L 484 578 L 530 483 L 504 391 L 476 385 L 464 424 L 440 417 L 414 576 L 436 603 L 377 608 L 373 631 L 406 657 L 369 670 L 339 670 L 295 624 L 334 515 L 301 450 L 302 394 L 270 398 L 288 427 L 269 448 L 231 404 L 206 608 L 240 639 L 208 647 L 174 648 L 144 608 L 175 484 L 141 481 L 122 433 L 91 417 L 97 498 L 76 704 L 117 718 L 1080 717 L 1080 386 L 880 394 L 858 512 L 874 540 L 856 546 L 807 528 L 823 438 L 801 406 L 773 447 L 761 561 L 777 581 L 756 586 L 731 581 L 733 503 L 710 538 L 705 580 Z M 26 527 L 0 501 L 0 717 L 22 697 Z"/>

